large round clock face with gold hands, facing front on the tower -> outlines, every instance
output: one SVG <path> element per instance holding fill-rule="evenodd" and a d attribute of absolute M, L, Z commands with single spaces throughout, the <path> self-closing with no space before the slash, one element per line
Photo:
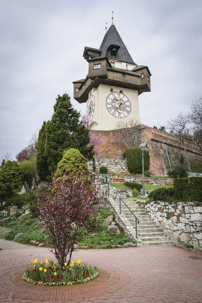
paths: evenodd
<path fill-rule="evenodd" d="M 111 92 L 106 98 L 108 112 L 115 118 L 126 118 L 131 112 L 129 98 L 119 91 Z"/>

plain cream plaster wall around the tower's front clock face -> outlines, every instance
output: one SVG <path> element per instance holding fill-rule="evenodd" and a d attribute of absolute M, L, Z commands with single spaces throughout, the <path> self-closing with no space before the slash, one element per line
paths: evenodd
<path fill-rule="evenodd" d="M 113 117 L 106 108 L 106 98 L 109 93 L 111 93 L 110 89 L 113 88 L 114 91 L 123 90 L 123 93 L 127 95 L 131 102 L 131 113 L 128 117 L 118 119 Z M 113 130 L 116 129 L 116 123 L 119 121 L 126 121 L 128 118 L 134 118 L 136 120 L 140 120 L 139 117 L 139 103 L 138 103 L 138 91 L 132 90 L 128 88 L 123 88 L 120 86 L 110 86 L 105 84 L 100 84 L 97 88 L 91 89 L 91 94 L 95 97 L 95 111 L 93 116 L 93 125 L 92 128 L 94 130 Z M 89 92 L 89 97 L 90 97 Z M 87 103 L 88 104 L 88 100 Z"/>

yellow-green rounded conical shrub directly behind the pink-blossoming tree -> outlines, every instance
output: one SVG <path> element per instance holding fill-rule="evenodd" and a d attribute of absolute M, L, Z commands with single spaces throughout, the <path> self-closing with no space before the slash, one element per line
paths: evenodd
<path fill-rule="evenodd" d="M 58 163 L 56 170 L 57 179 L 62 179 L 65 174 L 69 179 L 73 178 L 73 175 L 83 175 L 86 177 L 89 175 L 86 159 L 78 149 L 68 149 L 62 160 Z"/>

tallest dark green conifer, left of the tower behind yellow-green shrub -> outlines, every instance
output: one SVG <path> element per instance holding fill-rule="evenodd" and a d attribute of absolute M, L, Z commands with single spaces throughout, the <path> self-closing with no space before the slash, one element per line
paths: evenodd
<path fill-rule="evenodd" d="M 93 157 L 93 145 L 86 146 L 90 141 L 89 130 L 79 118 L 80 112 L 73 108 L 69 94 L 58 95 L 45 142 L 49 172 L 56 171 L 64 151 L 71 147 L 78 149 L 86 159 Z"/>

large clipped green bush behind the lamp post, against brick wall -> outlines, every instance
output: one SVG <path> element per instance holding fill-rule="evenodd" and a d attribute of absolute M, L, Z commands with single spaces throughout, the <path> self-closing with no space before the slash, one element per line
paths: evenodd
<path fill-rule="evenodd" d="M 123 153 L 123 159 L 127 160 L 128 170 L 131 174 L 142 173 L 142 150 L 139 147 L 128 148 Z M 144 169 L 149 170 L 149 151 L 144 150 Z"/>

